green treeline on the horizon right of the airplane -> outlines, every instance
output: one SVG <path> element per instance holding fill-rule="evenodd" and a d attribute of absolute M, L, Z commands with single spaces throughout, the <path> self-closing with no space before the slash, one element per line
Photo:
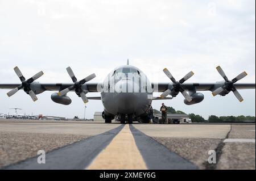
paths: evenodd
<path fill-rule="evenodd" d="M 176 111 L 173 107 L 168 107 L 167 113 L 179 113 L 186 114 L 183 111 Z M 155 113 L 161 113 L 158 110 L 154 110 Z M 241 122 L 250 122 L 255 123 L 255 116 L 215 116 L 210 115 L 208 120 L 205 120 L 201 115 L 195 115 L 194 113 L 188 114 L 189 119 L 191 119 L 192 123 L 241 123 Z"/>

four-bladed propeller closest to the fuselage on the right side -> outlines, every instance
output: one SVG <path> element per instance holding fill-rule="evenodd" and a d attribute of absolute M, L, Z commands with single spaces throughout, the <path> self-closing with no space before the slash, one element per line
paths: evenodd
<path fill-rule="evenodd" d="M 184 96 L 184 98 L 188 102 L 191 102 L 192 101 L 191 96 L 183 89 L 183 87 L 181 85 L 193 76 L 193 74 L 194 74 L 193 71 L 190 71 L 187 75 L 185 75 L 182 79 L 180 79 L 180 81 L 176 81 L 176 79 L 172 76 L 172 74 L 170 73 L 170 71 L 168 69 L 165 68 L 165 69 L 163 69 L 163 71 L 167 75 L 167 77 L 170 78 L 171 81 L 173 82 L 174 89 L 172 89 L 172 90 L 167 89 L 166 91 L 163 92 L 162 95 L 160 95 L 160 97 L 166 98 L 166 96 L 171 94 L 173 91 L 177 92 L 177 94 L 179 94 L 179 92 L 181 92 L 181 94 Z M 174 95 L 176 96 L 177 94 L 174 94 Z"/>

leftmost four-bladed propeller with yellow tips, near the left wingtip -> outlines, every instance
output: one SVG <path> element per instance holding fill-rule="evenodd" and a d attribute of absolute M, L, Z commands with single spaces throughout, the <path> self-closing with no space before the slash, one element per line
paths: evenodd
<path fill-rule="evenodd" d="M 27 80 L 26 80 L 26 78 L 24 78 L 23 74 L 21 73 L 21 71 L 19 70 L 19 68 L 17 66 L 14 68 L 14 71 L 18 75 L 22 84 L 19 85 L 18 87 L 16 87 L 15 89 L 9 91 L 7 93 L 7 95 L 9 97 L 13 96 L 20 89 L 24 89 L 24 91 L 31 96 L 32 100 L 34 100 L 34 101 L 38 100 L 35 92 L 31 90 L 30 85 L 32 82 L 34 82 L 36 79 L 40 78 L 44 74 L 43 71 L 39 71 L 39 73 L 35 74 L 33 77 L 31 77 L 30 79 L 27 79 Z"/>

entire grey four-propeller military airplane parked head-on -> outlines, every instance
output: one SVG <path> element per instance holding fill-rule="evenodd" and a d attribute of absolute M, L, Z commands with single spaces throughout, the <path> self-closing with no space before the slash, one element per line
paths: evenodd
<path fill-rule="evenodd" d="M 126 121 L 132 124 L 133 120 L 138 119 L 141 119 L 142 123 L 149 123 L 148 114 L 152 100 L 172 99 L 181 92 L 185 98 L 184 103 L 192 105 L 200 103 L 204 99 L 204 95 L 197 91 L 212 91 L 213 96 L 225 96 L 232 91 L 236 98 L 242 102 L 243 98 L 237 90 L 255 89 L 255 83 L 237 83 L 237 81 L 246 77 L 247 73 L 245 71 L 230 81 L 220 66 L 216 69 L 224 78 L 224 81 L 216 83 L 185 83 L 193 76 L 194 73 L 192 71 L 180 81 L 176 81 L 170 71 L 165 68 L 163 71 L 171 79 L 171 82 L 151 83 L 141 70 L 129 65 L 129 60 L 127 60 L 127 65 L 115 68 L 108 74 L 103 83 L 88 83 L 96 77 L 95 74 L 77 81 L 70 67 L 67 68 L 67 71 L 73 83 L 39 83 L 35 82 L 35 80 L 43 75 L 43 71 L 35 74 L 30 79 L 26 79 L 19 68 L 15 67 L 14 71 L 22 83 L 0 84 L 0 89 L 13 89 L 7 93 L 9 97 L 23 89 L 34 101 L 38 100 L 36 95 L 44 91 L 59 91 L 53 93 L 51 99 L 55 103 L 64 105 L 69 105 L 72 102 L 67 93 L 75 91 L 84 103 L 87 103 L 88 99 L 102 101 L 104 106 L 102 117 L 104 117 L 105 123 L 112 123 L 115 116 L 119 117 L 122 124 L 125 124 Z M 101 92 L 101 96 L 87 98 L 86 94 L 88 92 Z M 153 97 L 153 92 L 163 93 L 160 97 Z M 168 95 L 171 95 L 171 97 L 168 97 Z"/>

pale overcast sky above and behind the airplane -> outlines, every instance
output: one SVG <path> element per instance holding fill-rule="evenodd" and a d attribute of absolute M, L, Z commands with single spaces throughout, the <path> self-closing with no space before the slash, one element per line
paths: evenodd
<path fill-rule="evenodd" d="M 215 69 L 221 65 L 229 79 L 246 70 L 240 82 L 255 82 L 255 1 L 138 1 L 0 0 L 0 83 L 18 83 L 13 68 L 26 78 L 40 70 L 42 83 L 71 82 L 65 68 L 71 66 L 78 79 L 95 73 L 102 82 L 110 70 L 130 64 L 144 71 L 151 82 L 168 82 L 168 68 L 176 79 L 188 71 L 188 82 L 222 80 Z M 8 98 L 0 90 L 0 113 L 23 108 L 19 113 L 43 113 L 83 117 L 84 103 L 74 92 L 72 104 L 51 100 L 53 92 L 38 95 L 34 103 L 23 91 Z M 213 97 L 203 92 L 204 102 L 187 106 L 180 94 L 166 105 L 186 113 L 255 116 L 255 90 L 240 90 Z M 90 93 L 88 96 L 100 95 Z M 155 94 L 159 95 L 159 94 Z M 153 102 L 159 109 L 162 101 Z M 86 117 L 103 111 L 99 100 L 86 104 Z"/>

